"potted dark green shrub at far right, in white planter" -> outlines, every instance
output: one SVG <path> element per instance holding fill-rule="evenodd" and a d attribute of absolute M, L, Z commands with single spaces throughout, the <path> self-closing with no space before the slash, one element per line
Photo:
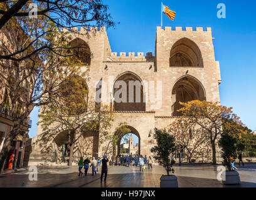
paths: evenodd
<path fill-rule="evenodd" d="M 240 184 L 240 177 L 235 169 L 232 169 L 232 159 L 236 158 L 236 143 L 237 139 L 231 134 L 223 133 L 219 141 L 221 148 L 221 158 L 223 158 L 223 166 L 226 171 L 222 173 L 223 184 Z"/>

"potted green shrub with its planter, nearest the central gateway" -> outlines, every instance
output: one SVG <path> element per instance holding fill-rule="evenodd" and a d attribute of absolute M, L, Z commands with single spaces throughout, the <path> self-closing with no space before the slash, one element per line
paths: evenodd
<path fill-rule="evenodd" d="M 166 130 L 155 129 L 154 139 L 157 146 L 151 148 L 151 152 L 155 154 L 154 159 L 166 169 L 167 176 L 163 175 L 160 179 L 160 187 L 178 187 L 177 177 L 174 176 L 173 164 L 175 161 L 171 159 L 171 155 L 175 151 L 174 137 Z"/>

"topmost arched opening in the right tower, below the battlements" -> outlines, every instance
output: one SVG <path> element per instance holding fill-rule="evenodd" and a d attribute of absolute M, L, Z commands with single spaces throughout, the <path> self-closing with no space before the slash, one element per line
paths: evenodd
<path fill-rule="evenodd" d="M 184 37 L 171 48 L 170 67 L 203 67 L 201 51 L 195 42 Z"/>

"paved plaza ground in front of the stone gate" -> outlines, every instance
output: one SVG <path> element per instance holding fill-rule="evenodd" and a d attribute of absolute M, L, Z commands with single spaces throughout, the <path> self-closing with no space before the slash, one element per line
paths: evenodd
<path fill-rule="evenodd" d="M 175 166 L 179 187 L 256 187 L 256 164 L 238 167 L 241 184 L 223 186 L 216 180 L 216 166 Z M 166 174 L 161 166 L 139 171 L 139 167 L 110 166 L 107 183 L 100 183 L 100 174 L 78 176 L 78 168 L 38 168 L 38 181 L 29 181 L 28 169 L 19 169 L 0 176 L 0 187 L 159 187 L 159 179 Z"/>

